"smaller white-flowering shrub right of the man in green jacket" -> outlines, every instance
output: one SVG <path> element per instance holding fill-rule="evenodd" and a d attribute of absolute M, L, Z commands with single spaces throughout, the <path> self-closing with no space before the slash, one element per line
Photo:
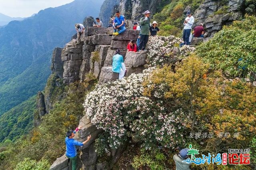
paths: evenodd
<path fill-rule="evenodd" d="M 195 50 L 194 47 L 189 47 L 188 45 L 178 48 L 182 42 L 182 39 L 173 35 L 168 37 L 151 36 L 147 45 L 149 53 L 146 59 L 146 66 L 163 66 L 164 64 L 170 63 L 171 60 L 187 57 L 190 52 Z"/>

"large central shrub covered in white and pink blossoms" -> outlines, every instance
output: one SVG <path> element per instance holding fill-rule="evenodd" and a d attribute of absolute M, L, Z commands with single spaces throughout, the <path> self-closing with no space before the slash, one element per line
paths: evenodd
<path fill-rule="evenodd" d="M 143 96 L 144 79 L 154 70 L 144 70 L 142 74 L 96 86 L 86 96 L 86 115 L 98 129 L 108 133 L 108 143 L 116 149 L 128 137 L 144 142 L 150 149 L 154 145 L 174 148 L 182 139 L 180 126 L 182 111 L 171 113 L 162 102 Z M 100 151 L 101 150 L 101 151 Z M 102 154 L 102 150 L 99 151 Z"/>

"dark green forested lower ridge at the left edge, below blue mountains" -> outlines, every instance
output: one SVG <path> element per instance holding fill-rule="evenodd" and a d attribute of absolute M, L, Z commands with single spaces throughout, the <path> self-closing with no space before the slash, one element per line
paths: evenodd
<path fill-rule="evenodd" d="M 0 117 L 2 141 L 16 141 L 27 135 L 33 127 L 33 113 L 36 108 L 36 96 L 12 108 Z"/>

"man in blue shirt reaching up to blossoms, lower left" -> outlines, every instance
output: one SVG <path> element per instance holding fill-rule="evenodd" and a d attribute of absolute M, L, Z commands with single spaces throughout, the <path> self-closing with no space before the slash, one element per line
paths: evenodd
<path fill-rule="evenodd" d="M 82 127 L 77 127 L 76 130 L 71 131 L 69 130 L 66 133 L 66 157 L 68 157 L 71 162 L 72 162 L 72 170 L 76 170 L 76 158 L 77 158 L 77 151 L 76 151 L 76 146 L 83 146 L 85 145 L 88 141 L 91 139 L 91 135 L 87 137 L 87 140 L 82 142 L 76 141 L 73 139 L 75 136 L 76 132 L 80 130 Z"/>

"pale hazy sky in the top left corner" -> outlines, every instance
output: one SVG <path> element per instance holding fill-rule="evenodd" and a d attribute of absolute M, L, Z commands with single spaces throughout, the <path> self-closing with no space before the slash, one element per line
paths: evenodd
<path fill-rule="evenodd" d="M 10 17 L 29 17 L 49 7 L 61 6 L 74 0 L 0 0 L 0 13 Z"/>

